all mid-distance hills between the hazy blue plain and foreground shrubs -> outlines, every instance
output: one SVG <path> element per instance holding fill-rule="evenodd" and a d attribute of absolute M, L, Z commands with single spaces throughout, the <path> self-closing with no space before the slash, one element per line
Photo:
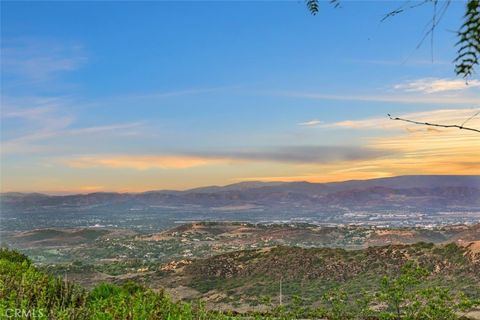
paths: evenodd
<path fill-rule="evenodd" d="M 429 283 L 480 298 L 480 224 L 437 228 L 325 227 L 202 222 L 157 233 L 125 229 L 37 229 L 3 239 L 51 274 L 86 288 L 133 280 L 214 310 L 268 310 L 329 290 L 378 289 L 407 262 Z"/>

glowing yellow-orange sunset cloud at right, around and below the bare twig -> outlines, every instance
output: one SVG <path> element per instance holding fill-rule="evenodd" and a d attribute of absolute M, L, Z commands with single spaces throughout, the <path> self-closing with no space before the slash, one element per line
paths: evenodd
<path fill-rule="evenodd" d="M 473 109 L 431 110 L 399 115 L 419 121 L 462 123 L 475 114 Z M 469 126 L 480 128 L 480 118 Z M 357 160 L 345 165 L 326 163 L 316 181 L 365 179 L 379 176 L 411 174 L 478 174 L 480 172 L 480 138 L 478 133 L 413 125 L 385 118 L 345 120 L 329 127 L 380 129 L 382 135 L 365 138 L 365 147 L 383 150 L 384 157 Z M 311 180 L 314 181 L 314 180 Z"/>

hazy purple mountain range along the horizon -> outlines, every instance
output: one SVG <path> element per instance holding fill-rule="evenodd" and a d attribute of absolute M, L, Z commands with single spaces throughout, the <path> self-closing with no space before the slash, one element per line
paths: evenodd
<path fill-rule="evenodd" d="M 232 206 L 280 211 L 321 210 L 332 206 L 476 207 L 480 206 L 480 175 L 399 176 L 332 183 L 250 181 L 186 191 L 66 196 L 4 193 L 0 201 L 2 210 L 89 206 L 193 206 L 220 211 Z"/>

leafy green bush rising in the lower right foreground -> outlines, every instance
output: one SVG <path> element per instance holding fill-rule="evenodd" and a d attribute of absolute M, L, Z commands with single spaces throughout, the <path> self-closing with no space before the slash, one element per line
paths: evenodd
<path fill-rule="evenodd" d="M 457 320 L 461 312 L 479 305 L 477 300 L 448 288 L 429 284 L 430 272 L 410 261 L 397 276 L 385 276 L 376 292 L 348 295 L 335 288 L 323 296 L 322 314 L 329 320 Z"/>

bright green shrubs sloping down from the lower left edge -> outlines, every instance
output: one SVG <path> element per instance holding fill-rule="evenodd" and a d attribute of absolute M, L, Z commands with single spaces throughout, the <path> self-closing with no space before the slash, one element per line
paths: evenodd
<path fill-rule="evenodd" d="M 225 319 L 201 304 L 175 303 L 135 283 L 90 292 L 38 271 L 24 255 L 0 249 L 0 317 L 23 319 Z"/>

